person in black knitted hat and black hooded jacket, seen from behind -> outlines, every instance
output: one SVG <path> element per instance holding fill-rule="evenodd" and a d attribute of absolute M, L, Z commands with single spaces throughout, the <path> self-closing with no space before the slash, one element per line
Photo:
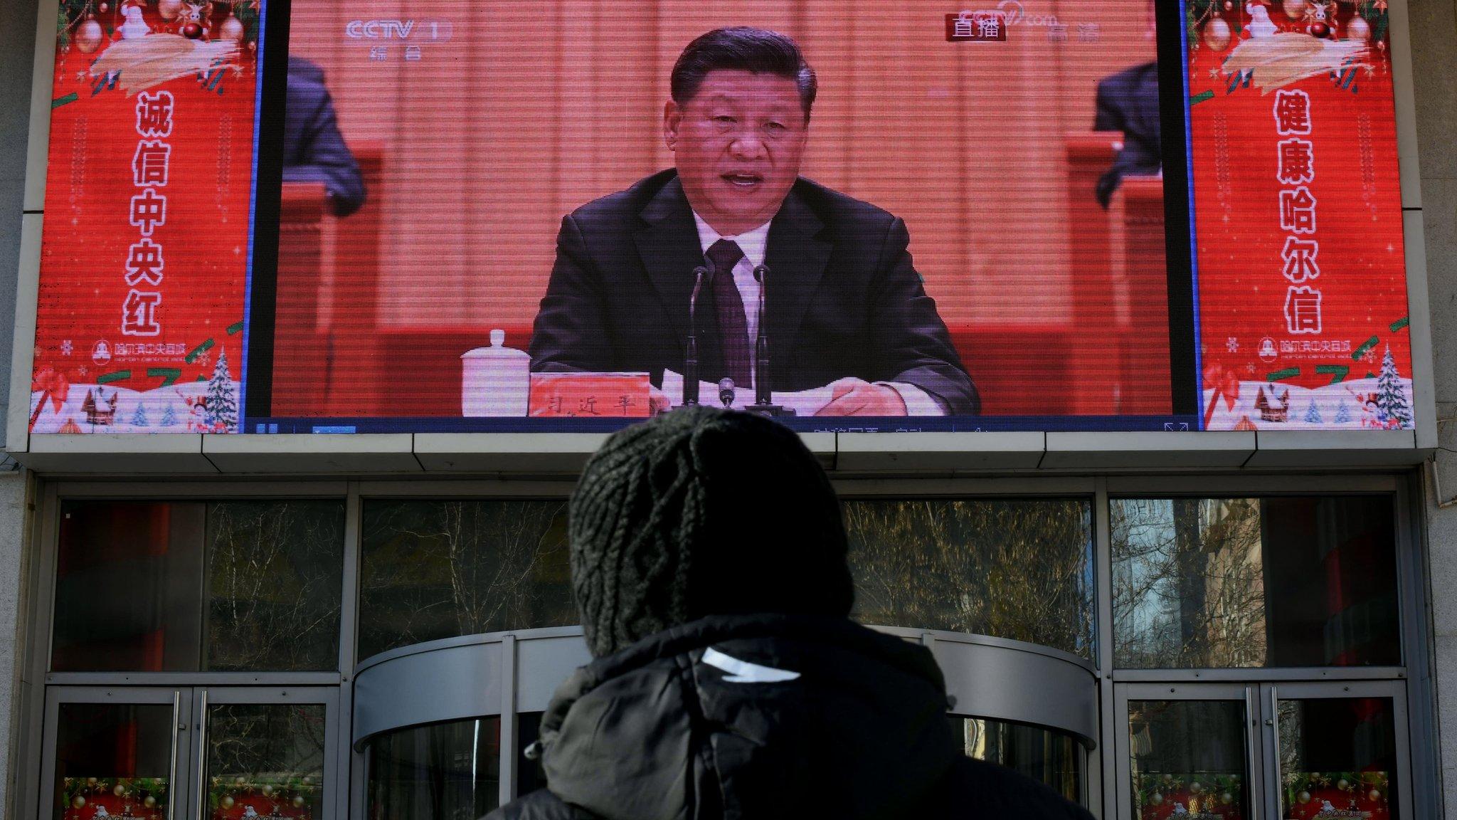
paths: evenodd
<path fill-rule="evenodd" d="M 546 788 L 487 820 L 1091 819 L 966 757 L 930 651 L 848 619 L 839 502 L 784 426 L 688 407 L 615 433 L 568 541 L 594 660 L 527 749 Z"/>

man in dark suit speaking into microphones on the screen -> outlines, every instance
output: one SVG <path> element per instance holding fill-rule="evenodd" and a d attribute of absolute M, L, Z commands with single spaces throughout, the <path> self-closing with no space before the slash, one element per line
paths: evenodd
<path fill-rule="evenodd" d="M 682 372 L 702 266 L 712 271 L 696 309 L 704 379 L 750 388 L 766 286 L 775 391 L 832 385 L 822 416 L 976 413 L 905 223 L 798 177 L 816 80 L 794 41 L 711 31 L 670 82 L 663 136 L 676 168 L 562 220 L 532 369 Z"/>

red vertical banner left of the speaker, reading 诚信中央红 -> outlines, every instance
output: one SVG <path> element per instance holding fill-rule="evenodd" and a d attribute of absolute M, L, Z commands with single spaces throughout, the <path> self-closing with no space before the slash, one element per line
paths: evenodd
<path fill-rule="evenodd" d="M 236 432 L 259 0 L 63 0 L 31 430 Z"/>

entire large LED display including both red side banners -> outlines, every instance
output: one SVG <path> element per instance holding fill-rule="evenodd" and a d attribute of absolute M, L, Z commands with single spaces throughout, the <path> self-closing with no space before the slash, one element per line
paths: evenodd
<path fill-rule="evenodd" d="M 1410 428 L 1387 29 L 63 0 L 31 429 Z"/>

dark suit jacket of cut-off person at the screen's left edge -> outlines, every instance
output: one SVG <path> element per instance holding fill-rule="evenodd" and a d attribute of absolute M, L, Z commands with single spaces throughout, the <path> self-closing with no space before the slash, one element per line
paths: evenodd
<path fill-rule="evenodd" d="M 344 144 L 323 69 L 288 58 L 288 95 L 283 117 L 284 182 L 323 182 L 334 213 L 348 216 L 364 204 L 364 179 Z"/>

